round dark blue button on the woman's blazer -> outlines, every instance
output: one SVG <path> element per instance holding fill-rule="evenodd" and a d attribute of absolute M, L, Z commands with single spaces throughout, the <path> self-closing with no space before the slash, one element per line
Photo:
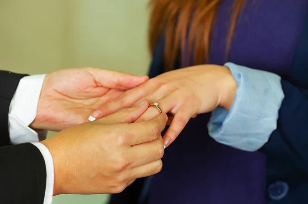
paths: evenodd
<path fill-rule="evenodd" d="M 273 200 L 281 200 L 288 193 L 289 187 L 288 184 L 284 181 L 276 181 L 268 187 L 267 193 L 268 196 Z"/>

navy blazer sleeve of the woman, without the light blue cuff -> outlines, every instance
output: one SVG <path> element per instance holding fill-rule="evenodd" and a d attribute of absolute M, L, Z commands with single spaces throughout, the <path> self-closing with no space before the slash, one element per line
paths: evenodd
<path fill-rule="evenodd" d="M 277 128 L 259 151 L 269 158 L 291 161 L 308 170 L 308 90 L 282 80 L 282 101 Z"/>

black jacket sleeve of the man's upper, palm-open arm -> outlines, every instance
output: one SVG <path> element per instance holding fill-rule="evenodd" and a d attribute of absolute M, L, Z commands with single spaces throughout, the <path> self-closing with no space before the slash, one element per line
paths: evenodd
<path fill-rule="evenodd" d="M 25 76 L 27 75 L 0 70 L 0 146 L 10 144 L 9 108 L 18 83 Z"/>

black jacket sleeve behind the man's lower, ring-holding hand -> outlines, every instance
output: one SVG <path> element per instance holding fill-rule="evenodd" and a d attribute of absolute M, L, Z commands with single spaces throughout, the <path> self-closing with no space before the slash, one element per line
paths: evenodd
<path fill-rule="evenodd" d="M 0 147 L 0 203 L 42 204 L 46 188 L 44 158 L 31 143 Z"/>

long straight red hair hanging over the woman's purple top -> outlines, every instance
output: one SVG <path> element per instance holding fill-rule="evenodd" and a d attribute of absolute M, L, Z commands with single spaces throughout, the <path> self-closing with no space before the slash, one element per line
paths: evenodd
<path fill-rule="evenodd" d="M 236 21 L 245 0 L 234 2 L 234 11 L 227 37 L 229 52 Z M 174 68 L 180 49 L 188 44 L 188 55 L 194 53 L 195 65 L 204 64 L 209 55 L 209 41 L 220 0 L 151 0 L 149 46 L 153 53 L 159 35 L 165 34 L 165 71 Z M 196 7 L 196 5 L 198 5 Z M 187 28 L 189 27 L 189 35 Z M 187 36 L 188 35 L 188 36 Z M 188 41 L 188 42 L 187 42 Z M 192 50 L 194 42 L 198 42 Z"/>

